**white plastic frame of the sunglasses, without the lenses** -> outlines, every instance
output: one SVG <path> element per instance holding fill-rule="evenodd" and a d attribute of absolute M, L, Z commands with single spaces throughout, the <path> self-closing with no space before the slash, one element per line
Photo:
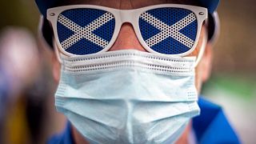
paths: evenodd
<path fill-rule="evenodd" d="M 72 9 L 82 9 L 82 8 L 89 8 L 89 9 L 96 9 L 96 10 L 105 10 L 106 12 L 109 12 L 110 14 L 114 15 L 114 20 L 115 20 L 115 27 L 114 27 L 114 34 L 112 35 L 112 38 L 110 40 L 110 43 L 103 48 L 101 51 L 98 51 L 97 53 L 102 53 L 110 50 L 111 46 L 114 45 L 114 42 L 118 38 L 118 34 L 121 30 L 121 26 L 123 23 L 128 22 L 130 23 L 135 31 L 135 34 L 138 38 L 138 41 L 141 43 L 141 45 L 150 53 L 154 54 L 162 54 L 158 53 L 157 51 L 152 50 L 149 46 L 146 45 L 146 42 L 142 38 L 142 34 L 139 30 L 139 17 L 142 13 L 146 12 L 147 10 L 153 10 L 157 8 L 163 8 L 163 7 L 173 7 L 173 8 L 181 8 L 181 9 L 186 9 L 192 11 L 198 22 L 198 29 L 197 29 L 197 36 L 194 41 L 194 46 L 190 48 L 190 50 L 186 51 L 185 53 L 182 54 L 163 54 L 163 55 L 169 55 L 169 56 L 186 56 L 190 54 L 192 51 L 194 51 L 195 47 L 198 44 L 198 39 L 200 37 L 200 32 L 202 29 L 202 23 L 207 20 L 208 18 L 208 12 L 207 9 L 204 7 L 200 6 L 190 6 L 190 5 L 180 5 L 180 4 L 161 4 L 161 5 L 154 5 L 154 6 L 146 6 L 138 9 L 133 9 L 133 10 L 119 10 L 119 9 L 114 9 L 106 6 L 94 6 L 94 5 L 70 5 L 70 6 L 58 6 L 54 8 L 50 8 L 47 10 L 47 19 L 50 21 L 53 30 L 54 30 L 54 36 L 55 36 L 55 42 L 57 42 L 58 50 L 62 54 L 65 54 L 66 56 L 78 56 L 78 54 L 70 54 L 69 52 L 66 52 L 58 39 L 58 30 L 57 30 L 57 22 L 58 22 L 58 17 L 60 14 L 62 14 L 63 11 L 65 10 L 72 10 Z M 86 54 L 88 55 L 88 54 Z"/>

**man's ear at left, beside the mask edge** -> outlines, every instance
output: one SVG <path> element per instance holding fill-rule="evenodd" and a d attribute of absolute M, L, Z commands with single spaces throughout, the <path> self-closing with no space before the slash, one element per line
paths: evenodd
<path fill-rule="evenodd" d="M 54 82 L 58 83 L 60 79 L 61 64 L 58 62 L 56 54 L 52 54 L 52 72 L 54 77 Z"/>

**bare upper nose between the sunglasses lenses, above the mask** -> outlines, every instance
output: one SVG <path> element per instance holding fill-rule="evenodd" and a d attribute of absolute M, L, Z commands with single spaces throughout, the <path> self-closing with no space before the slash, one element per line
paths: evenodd
<path fill-rule="evenodd" d="M 124 23 L 119 31 L 118 38 L 109 51 L 128 49 L 146 51 L 138 41 L 133 26 L 130 23 Z"/>

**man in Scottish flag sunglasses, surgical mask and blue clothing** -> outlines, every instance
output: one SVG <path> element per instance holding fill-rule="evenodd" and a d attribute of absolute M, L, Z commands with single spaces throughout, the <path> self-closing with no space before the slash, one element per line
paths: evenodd
<path fill-rule="evenodd" d="M 239 143 L 210 77 L 219 0 L 35 0 L 56 53 L 49 143 Z"/>

